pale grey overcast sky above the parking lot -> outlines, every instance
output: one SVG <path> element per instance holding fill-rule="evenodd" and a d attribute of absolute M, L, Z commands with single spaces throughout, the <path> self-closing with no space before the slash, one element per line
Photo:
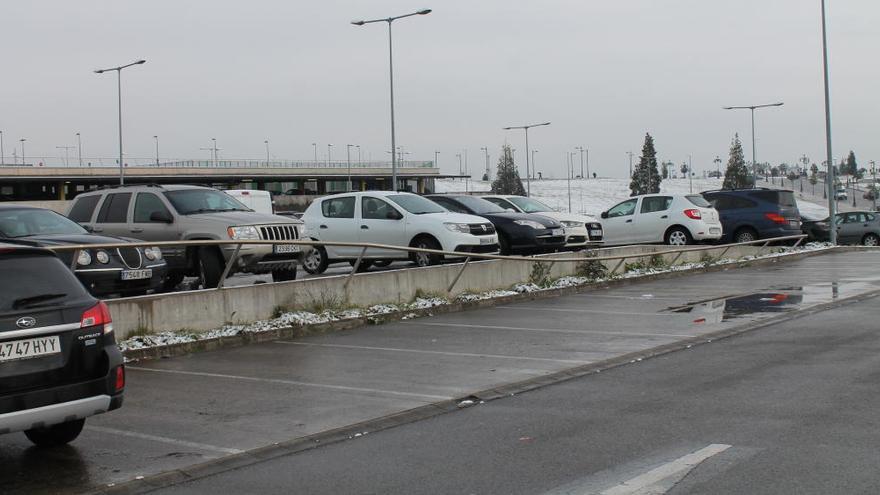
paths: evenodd
<path fill-rule="evenodd" d="M 433 2 L 433 3 L 432 3 Z M 834 156 L 880 159 L 880 2 L 829 0 Z M 86 157 L 117 153 L 115 73 L 123 72 L 126 154 L 207 159 L 387 159 L 388 33 L 358 18 L 420 8 L 394 23 L 397 142 L 407 159 L 440 151 L 446 172 L 492 166 L 508 140 L 522 166 L 530 132 L 538 170 L 564 176 L 566 152 L 624 176 L 645 132 L 661 159 L 693 155 L 697 171 L 727 158 L 748 111 L 758 160 L 823 160 L 819 0 L 55 0 L 4 2 L 0 130 L 7 161 L 61 156 L 82 134 Z M 20 147 L 18 147 L 20 152 Z M 522 150 L 522 151 L 520 151 Z M 76 150 L 70 150 L 75 161 Z M 577 158 L 579 160 L 579 158 Z M 112 159 L 111 159 L 112 160 Z M 31 160 L 29 159 L 28 162 Z M 57 161 L 57 159 L 56 159 Z M 475 172 L 477 173 L 477 172 Z"/>

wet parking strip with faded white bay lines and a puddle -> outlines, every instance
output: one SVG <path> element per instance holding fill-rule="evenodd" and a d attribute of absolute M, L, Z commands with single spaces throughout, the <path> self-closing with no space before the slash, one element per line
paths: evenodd
<path fill-rule="evenodd" d="M 78 493 L 880 289 L 834 253 L 131 365 L 55 451 L 0 437 L 4 493 Z"/>

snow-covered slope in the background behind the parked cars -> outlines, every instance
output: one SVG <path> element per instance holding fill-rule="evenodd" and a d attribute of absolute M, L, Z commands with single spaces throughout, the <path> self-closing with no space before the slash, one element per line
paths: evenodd
<path fill-rule="evenodd" d="M 687 179 L 665 179 L 660 183 L 660 192 L 667 194 L 690 194 L 702 191 L 721 189 L 723 179 L 697 179 L 693 186 Z M 523 182 L 525 186 L 525 182 Z M 435 181 L 438 193 L 464 192 L 465 182 L 456 179 L 438 179 Z M 691 189 L 693 187 L 693 189 Z M 492 183 L 480 180 L 467 182 L 468 191 L 481 191 L 486 194 L 492 189 Z M 568 181 L 565 179 L 543 179 L 531 182 L 532 197 L 547 203 L 560 211 L 569 211 Z M 629 197 L 629 180 L 627 179 L 573 179 L 571 181 L 571 211 L 598 217 L 600 213 Z M 811 203 L 808 200 L 798 201 L 798 208 L 813 216 L 828 216 L 828 208 Z"/>

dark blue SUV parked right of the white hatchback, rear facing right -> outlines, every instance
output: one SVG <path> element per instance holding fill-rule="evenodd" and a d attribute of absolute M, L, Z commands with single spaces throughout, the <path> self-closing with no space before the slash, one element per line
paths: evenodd
<path fill-rule="evenodd" d="M 721 217 L 722 242 L 750 242 L 801 233 L 800 212 L 792 191 L 726 189 L 702 194 Z"/>

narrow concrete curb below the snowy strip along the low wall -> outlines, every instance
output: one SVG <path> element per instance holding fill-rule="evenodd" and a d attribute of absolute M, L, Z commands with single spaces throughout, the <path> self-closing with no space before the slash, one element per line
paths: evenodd
<path fill-rule="evenodd" d="M 853 250 L 851 248 L 837 248 L 844 250 Z M 858 250 L 856 248 L 855 250 Z M 181 342 L 158 347 L 145 347 L 142 349 L 128 349 L 123 352 L 125 358 L 129 361 L 140 361 L 146 359 L 167 359 L 177 356 L 185 356 L 195 352 L 214 351 L 228 347 L 240 347 L 248 344 L 256 344 L 261 342 L 271 342 L 273 340 L 301 338 L 310 335 L 321 335 L 326 333 L 351 330 L 353 328 L 370 325 L 382 324 L 403 320 L 404 317 L 422 318 L 425 316 L 433 316 L 446 313 L 457 313 L 474 309 L 489 308 L 492 306 L 506 305 L 514 302 L 534 301 L 570 294 L 579 294 L 583 292 L 592 292 L 596 290 L 609 289 L 613 287 L 625 287 L 634 283 L 647 282 L 652 280 L 674 279 L 695 273 L 712 273 L 719 271 L 733 270 L 737 268 L 747 268 L 751 266 L 766 266 L 779 263 L 780 261 L 794 261 L 810 256 L 818 256 L 829 252 L 837 252 L 836 250 L 817 250 L 806 251 L 801 253 L 792 253 L 785 256 L 776 256 L 771 258 L 761 258 L 748 261 L 738 261 L 724 265 L 712 265 L 704 268 L 693 268 L 688 270 L 680 270 L 675 272 L 664 272 L 652 275 L 644 275 L 641 277 L 632 277 L 625 279 L 608 280 L 605 282 L 596 282 L 592 284 L 578 285 L 574 287 L 561 287 L 557 289 L 547 289 L 538 292 L 525 292 L 509 296 L 501 296 L 491 299 L 482 299 L 479 301 L 467 302 L 450 302 L 442 306 L 434 306 L 425 309 L 413 309 L 407 311 L 395 311 L 381 315 L 361 316 L 357 318 L 349 318 L 345 320 L 330 321 L 326 323 L 312 323 L 284 328 L 267 330 L 265 332 L 241 333 L 239 335 L 218 337 L 215 339 L 197 340 L 194 342 Z"/>

